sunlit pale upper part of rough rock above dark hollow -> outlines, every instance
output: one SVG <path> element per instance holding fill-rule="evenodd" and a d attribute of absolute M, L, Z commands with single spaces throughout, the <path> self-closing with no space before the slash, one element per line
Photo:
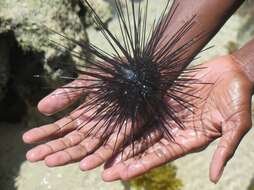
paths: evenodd
<path fill-rule="evenodd" d="M 62 74 L 70 75 L 74 72 L 73 64 L 84 64 L 84 61 L 74 59 L 69 51 L 59 51 L 52 46 L 49 39 L 61 42 L 68 50 L 81 50 L 69 40 L 48 31 L 45 26 L 80 42 L 86 42 L 80 11 L 81 7 L 75 0 L 1 0 L 0 33 L 13 31 L 23 51 L 42 52 L 44 69 L 52 79 Z"/>

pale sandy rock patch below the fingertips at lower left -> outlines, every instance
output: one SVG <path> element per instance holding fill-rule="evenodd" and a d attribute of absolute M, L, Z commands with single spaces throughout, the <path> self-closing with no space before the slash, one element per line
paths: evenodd
<path fill-rule="evenodd" d="M 119 181 L 103 182 L 101 171 L 102 168 L 81 172 L 77 164 L 47 168 L 43 163 L 24 162 L 15 186 L 17 190 L 124 190 L 124 185 Z"/>

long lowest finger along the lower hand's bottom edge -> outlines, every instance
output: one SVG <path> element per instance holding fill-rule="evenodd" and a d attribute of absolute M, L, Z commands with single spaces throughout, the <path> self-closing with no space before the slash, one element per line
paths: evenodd
<path fill-rule="evenodd" d="M 202 132 L 191 129 L 178 130 L 175 135 L 174 142 L 162 139 L 137 159 L 129 159 L 132 161 L 119 162 L 107 168 L 103 172 L 103 179 L 105 181 L 132 179 L 187 153 L 203 149 L 210 143 L 210 139 Z"/>

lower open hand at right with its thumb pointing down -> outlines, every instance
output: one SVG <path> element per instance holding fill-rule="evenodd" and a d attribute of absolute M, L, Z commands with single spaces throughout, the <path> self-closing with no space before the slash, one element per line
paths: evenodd
<path fill-rule="evenodd" d="M 202 151 L 220 138 L 210 164 L 210 180 L 218 182 L 226 163 L 251 128 L 253 84 L 232 56 L 209 61 L 203 67 L 206 69 L 199 70 L 195 78 L 214 85 L 200 88 L 200 96 L 207 99 L 195 103 L 195 113 L 189 115 L 185 129 L 174 131 L 175 142 L 157 135 L 144 155 L 144 150 L 140 155 L 137 151 L 136 158 L 119 154 L 106 163 L 104 180 L 132 179 L 186 154 Z"/>

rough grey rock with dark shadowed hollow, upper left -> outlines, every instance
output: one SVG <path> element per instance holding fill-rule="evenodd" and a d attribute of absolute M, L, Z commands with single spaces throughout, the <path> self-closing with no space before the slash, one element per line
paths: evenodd
<path fill-rule="evenodd" d="M 81 48 L 49 31 L 87 42 L 80 18 L 83 9 L 78 0 L 0 1 L 0 121 L 20 121 L 26 109 L 34 109 L 50 91 L 45 87 L 54 89 L 69 82 L 59 80 L 59 76 L 76 76 L 76 65 L 85 64 L 70 53 L 82 52 Z M 56 48 L 50 40 L 66 49 Z M 35 79 L 33 75 L 43 77 Z"/>

